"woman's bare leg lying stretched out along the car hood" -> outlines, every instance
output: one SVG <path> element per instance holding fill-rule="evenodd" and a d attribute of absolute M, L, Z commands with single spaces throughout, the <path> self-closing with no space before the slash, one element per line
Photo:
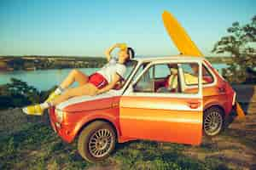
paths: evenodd
<path fill-rule="evenodd" d="M 63 94 L 60 96 L 56 97 L 50 102 L 51 106 L 58 105 L 61 102 L 73 98 L 76 96 L 81 96 L 81 95 L 96 95 L 98 88 L 96 88 L 93 84 L 91 83 L 85 83 L 82 86 L 79 86 L 77 88 L 69 88 L 67 89 Z"/>

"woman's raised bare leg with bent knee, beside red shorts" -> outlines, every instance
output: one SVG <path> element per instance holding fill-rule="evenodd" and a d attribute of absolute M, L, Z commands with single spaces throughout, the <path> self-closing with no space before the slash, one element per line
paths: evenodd
<path fill-rule="evenodd" d="M 85 75 L 83 72 L 73 69 L 69 72 L 68 76 L 65 78 L 63 82 L 61 82 L 60 87 L 65 89 L 68 88 L 73 82 L 79 82 L 79 86 L 83 86 L 88 82 L 89 77 Z"/>

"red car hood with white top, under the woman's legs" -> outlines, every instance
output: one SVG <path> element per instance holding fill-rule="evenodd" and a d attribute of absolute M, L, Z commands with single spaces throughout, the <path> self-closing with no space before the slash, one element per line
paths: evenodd
<path fill-rule="evenodd" d="M 77 111 L 91 111 L 106 109 L 112 107 L 113 97 L 119 96 L 121 93 L 117 90 L 110 90 L 105 94 L 99 94 L 96 96 L 79 96 L 72 99 L 68 99 L 59 105 L 56 105 L 57 110 L 67 112 Z"/>

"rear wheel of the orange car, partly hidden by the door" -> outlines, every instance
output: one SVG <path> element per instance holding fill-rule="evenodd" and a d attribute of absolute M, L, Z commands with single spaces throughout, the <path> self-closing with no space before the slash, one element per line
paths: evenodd
<path fill-rule="evenodd" d="M 204 111 L 203 129 L 207 136 L 215 136 L 224 127 L 224 113 L 218 107 L 211 107 Z"/>

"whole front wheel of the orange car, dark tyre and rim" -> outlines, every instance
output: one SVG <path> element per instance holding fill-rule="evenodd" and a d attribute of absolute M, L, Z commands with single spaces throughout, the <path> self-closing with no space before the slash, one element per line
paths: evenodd
<path fill-rule="evenodd" d="M 79 135 L 79 154 L 90 162 L 102 161 L 113 151 L 115 143 L 116 134 L 108 122 L 92 122 Z"/>

